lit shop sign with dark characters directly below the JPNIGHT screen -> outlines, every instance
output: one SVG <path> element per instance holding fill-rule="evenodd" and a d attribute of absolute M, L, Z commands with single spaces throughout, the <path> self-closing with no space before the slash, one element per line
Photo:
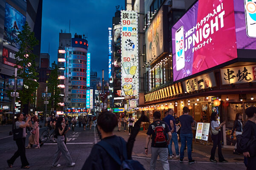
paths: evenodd
<path fill-rule="evenodd" d="M 213 72 L 194 77 L 192 79 L 187 79 L 183 81 L 184 90 L 189 93 L 192 91 L 198 91 L 205 88 L 212 88 L 216 86 L 215 76 Z"/>

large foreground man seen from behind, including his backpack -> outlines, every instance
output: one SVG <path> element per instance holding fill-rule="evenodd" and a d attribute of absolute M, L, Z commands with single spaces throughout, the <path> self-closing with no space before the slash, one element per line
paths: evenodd
<path fill-rule="evenodd" d="M 117 126 L 117 118 L 111 112 L 101 113 L 97 119 L 102 140 L 95 144 L 90 155 L 86 159 L 82 170 L 120 170 L 125 169 L 121 164 L 136 170 L 145 170 L 143 166 L 134 160 L 128 160 L 127 143 L 125 140 L 113 134 Z"/>

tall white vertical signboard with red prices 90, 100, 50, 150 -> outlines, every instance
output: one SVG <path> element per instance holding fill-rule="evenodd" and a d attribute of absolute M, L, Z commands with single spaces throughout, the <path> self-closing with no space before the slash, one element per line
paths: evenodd
<path fill-rule="evenodd" d="M 121 11 L 122 96 L 137 96 L 138 18 L 136 11 Z"/>

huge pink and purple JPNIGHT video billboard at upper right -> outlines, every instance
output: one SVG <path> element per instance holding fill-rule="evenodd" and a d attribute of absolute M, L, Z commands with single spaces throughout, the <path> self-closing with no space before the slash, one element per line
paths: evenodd
<path fill-rule="evenodd" d="M 236 59 L 237 49 L 256 49 L 252 6 L 251 0 L 198 0 L 172 27 L 174 81 Z"/>

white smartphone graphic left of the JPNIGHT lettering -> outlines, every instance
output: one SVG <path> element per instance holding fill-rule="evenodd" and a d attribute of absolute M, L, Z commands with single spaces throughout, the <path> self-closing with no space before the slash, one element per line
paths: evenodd
<path fill-rule="evenodd" d="M 185 67 L 184 28 L 183 28 L 183 26 L 181 26 L 175 32 L 175 49 L 176 49 L 176 70 L 179 71 Z"/>

